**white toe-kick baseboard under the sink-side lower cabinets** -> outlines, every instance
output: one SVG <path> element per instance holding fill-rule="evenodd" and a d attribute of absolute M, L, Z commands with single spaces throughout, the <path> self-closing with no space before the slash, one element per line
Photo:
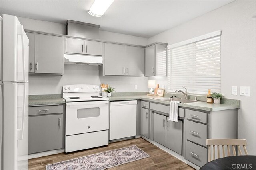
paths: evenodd
<path fill-rule="evenodd" d="M 144 136 L 141 136 L 142 139 L 145 139 L 146 141 L 152 143 L 153 145 L 157 146 L 158 148 L 164 150 L 165 152 L 167 152 L 168 154 L 171 154 L 172 156 L 174 156 L 175 158 L 181 160 L 182 162 L 184 162 L 185 164 L 188 164 L 189 166 L 192 166 L 193 168 L 195 168 L 196 170 L 199 170 L 200 167 L 193 164 L 192 162 L 189 162 L 188 160 L 186 160 L 183 156 L 181 156 L 180 154 L 177 154 L 176 152 L 164 147 L 163 145 L 155 142 L 155 141 L 151 141 L 150 139 L 144 137 Z"/>

